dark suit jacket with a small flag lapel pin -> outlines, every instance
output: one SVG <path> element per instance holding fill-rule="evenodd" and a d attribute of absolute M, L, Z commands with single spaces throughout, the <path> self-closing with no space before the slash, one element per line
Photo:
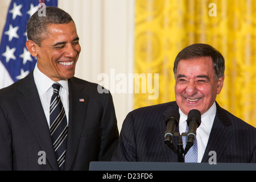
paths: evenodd
<path fill-rule="evenodd" d="M 90 161 L 110 160 L 117 146 L 113 100 L 99 94 L 97 84 L 73 77 L 68 85 L 64 170 L 88 170 Z M 46 164 L 38 163 L 39 151 L 46 152 Z M 59 170 L 32 72 L 0 90 L 0 170 Z"/>

